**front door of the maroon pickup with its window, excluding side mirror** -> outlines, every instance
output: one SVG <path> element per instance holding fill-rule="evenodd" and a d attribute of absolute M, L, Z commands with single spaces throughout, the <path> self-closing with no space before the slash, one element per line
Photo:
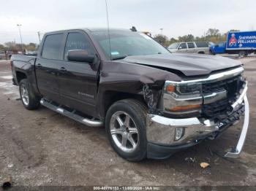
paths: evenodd
<path fill-rule="evenodd" d="M 64 104 L 80 112 L 93 114 L 97 94 L 97 63 L 67 60 L 69 50 L 86 50 L 96 55 L 96 50 L 84 31 L 69 31 L 59 73 L 59 90 Z"/>

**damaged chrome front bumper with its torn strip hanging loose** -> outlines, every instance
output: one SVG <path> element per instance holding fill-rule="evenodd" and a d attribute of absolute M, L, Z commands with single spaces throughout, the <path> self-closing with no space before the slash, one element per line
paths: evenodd
<path fill-rule="evenodd" d="M 238 100 L 232 105 L 233 112 L 236 112 L 239 106 L 244 105 L 244 125 L 236 149 L 227 152 L 226 157 L 238 157 L 244 146 L 249 126 L 249 103 L 246 97 L 246 90 L 247 86 Z M 146 122 L 148 157 L 158 159 L 169 157 L 174 152 L 191 147 L 203 139 L 213 139 L 217 136 L 217 132 L 221 131 L 220 128 L 222 128 L 222 123 L 215 123 L 214 121 L 203 120 L 198 117 L 171 119 L 156 114 L 148 114 Z M 176 128 L 184 128 L 184 135 L 178 141 L 174 139 Z M 227 128 L 224 129 L 226 130 Z"/>

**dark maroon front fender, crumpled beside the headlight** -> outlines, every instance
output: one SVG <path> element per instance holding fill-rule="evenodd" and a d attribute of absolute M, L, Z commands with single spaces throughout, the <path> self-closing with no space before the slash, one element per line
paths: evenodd
<path fill-rule="evenodd" d="M 100 117 L 105 116 L 105 102 L 110 93 L 131 93 L 143 96 L 148 112 L 157 113 L 159 96 L 165 80 L 181 81 L 178 75 L 140 64 L 123 61 L 102 61 L 97 93 L 97 109 Z"/>

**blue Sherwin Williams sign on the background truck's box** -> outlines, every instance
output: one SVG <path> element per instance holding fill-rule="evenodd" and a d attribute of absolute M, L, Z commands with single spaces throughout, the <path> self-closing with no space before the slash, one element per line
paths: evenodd
<path fill-rule="evenodd" d="M 229 32 L 227 34 L 227 50 L 230 49 L 256 50 L 256 31 Z"/>

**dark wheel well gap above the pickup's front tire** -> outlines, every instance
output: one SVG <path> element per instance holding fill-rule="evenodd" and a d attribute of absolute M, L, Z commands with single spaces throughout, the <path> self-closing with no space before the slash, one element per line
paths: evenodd
<path fill-rule="evenodd" d="M 105 106 L 104 106 L 105 114 L 108 112 L 108 109 L 112 104 L 122 99 L 134 98 L 146 105 L 143 95 L 138 95 L 133 93 L 121 93 L 121 92 L 115 92 L 115 91 L 108 91 L 105 95 L 106 95 Z"/>

